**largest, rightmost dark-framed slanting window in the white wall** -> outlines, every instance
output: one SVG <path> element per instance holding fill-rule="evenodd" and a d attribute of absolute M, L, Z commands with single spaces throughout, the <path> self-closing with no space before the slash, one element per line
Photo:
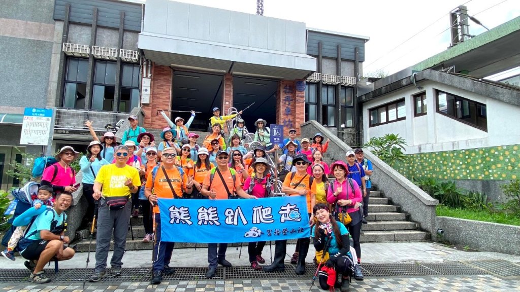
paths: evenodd
<path fill-rule="evenodd" d="M 487 131 L 486 105 L 437 90 L 437 112 Z"/>

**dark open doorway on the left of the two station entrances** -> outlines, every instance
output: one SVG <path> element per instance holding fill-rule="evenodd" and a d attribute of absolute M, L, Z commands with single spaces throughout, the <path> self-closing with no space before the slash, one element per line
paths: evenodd
<path fill-rule="evenodd" d="M 223 84 L 223 75 L 174 71 L 171 120 L 180 116 L 188 121 L 189 112 L 196 111 L 190 130 L 206 131 L 211 110 L 222 105 Z"/>

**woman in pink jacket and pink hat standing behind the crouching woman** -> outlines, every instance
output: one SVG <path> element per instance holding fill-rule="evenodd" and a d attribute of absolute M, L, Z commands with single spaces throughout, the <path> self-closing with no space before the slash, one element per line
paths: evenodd
<path fill-rule="evenodd" d="M 329 186 L 327 202 L 330 204 L 337 203 L 336 208 L 341 208 L 342 206 L 347 207 L 347 213 L 350 218 L 352 218 L 352 221 L 346 226 L 346 228 L 354 241 L 354 249 L 356 250 L 358 263 L 361 263 L 361 246 L 359 245 L 361 223 L 363 219 L 359 213 L 359 206 L 363 201 L 361 190 L 355 180 L 347 179 L 348 167 L 343 161 L 332 163 L 330 169 L 336 179 Z M 356 267 L 357 268 L 354 271 L 356 280 L 363 280 L 359 264 Z"/>

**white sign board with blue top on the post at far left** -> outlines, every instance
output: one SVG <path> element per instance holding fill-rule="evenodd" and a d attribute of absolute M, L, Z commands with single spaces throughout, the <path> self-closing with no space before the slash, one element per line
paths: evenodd
<path fill-rule="evenodd" d="M 53 110 L 51 109 L 25 108 L 20 144 L 47 145 L 52 119 Z"/>

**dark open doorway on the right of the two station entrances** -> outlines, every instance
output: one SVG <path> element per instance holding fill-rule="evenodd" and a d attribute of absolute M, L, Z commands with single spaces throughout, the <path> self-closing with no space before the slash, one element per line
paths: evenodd
<path fill-rule="evenodd" d="M 277 88 L 276 80 L 233 76 L 233 107 L 240 111 L 254 102 L 242 114 L 250 132 L 255 131 L 254 123 L 258 118 L 266 120 L 266 126 L 276 124 Z"/>

